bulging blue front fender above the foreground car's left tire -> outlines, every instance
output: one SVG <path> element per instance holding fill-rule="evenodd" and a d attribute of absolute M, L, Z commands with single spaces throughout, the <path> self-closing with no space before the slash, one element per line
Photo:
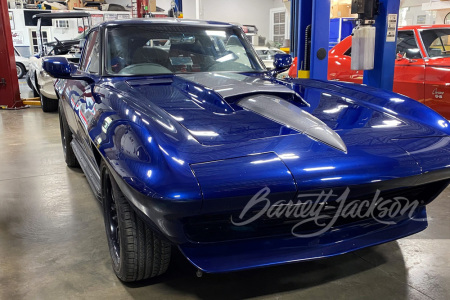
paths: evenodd
<path fill-rule="evenodd" d="M 198 213 L 202 205 L 198 182 L 170 142 L 182 142 L 182 128 L 170 123 L 176 130 L 168 136 L 170 126 L 152 121 L 151 113 L 144 114 L 132 99 L 108 88 L 96 88 L 94 98 L 98 116 L 89 124 L 90 139 L 122 180 L 144 197 L 189 203 L 189 209 L 184 205 L 178 212 L 168 208 L 170 214 Z"/>

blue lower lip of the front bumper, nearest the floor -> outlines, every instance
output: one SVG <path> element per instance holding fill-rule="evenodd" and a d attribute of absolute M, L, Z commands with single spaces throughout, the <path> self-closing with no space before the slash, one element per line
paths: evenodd
<path fill-rule="evenodd" d="M 383 225 L 373 220 L 363 221 L 312 238 L 287 236 L 206 245 L 186 244 L 179 248 L 194 266 L 207 273 L 326 258 L 420 232 L 428 226 L 426 209 L 418 209 L 414 219 L 404 218 L 396 222 L 395 225 Z"/>

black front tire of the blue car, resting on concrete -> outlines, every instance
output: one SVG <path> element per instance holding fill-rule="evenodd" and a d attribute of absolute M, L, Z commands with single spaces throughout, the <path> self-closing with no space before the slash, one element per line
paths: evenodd
<path fill-rule="evenodd" d="M 170 243 L 139 218 L 104 162 L 100 170 L 106 238 L 114 273 L 124 282 L 163 274 L 170 262 Z"/>

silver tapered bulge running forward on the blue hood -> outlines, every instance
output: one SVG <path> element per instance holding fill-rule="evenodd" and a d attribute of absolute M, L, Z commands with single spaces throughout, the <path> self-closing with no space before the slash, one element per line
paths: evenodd
<path fill-rule="evenodd" d="M 318 118 L 275 96 L 255 95 L 237 102 L 240 107 L 347 153 L 341 137 Z"/>

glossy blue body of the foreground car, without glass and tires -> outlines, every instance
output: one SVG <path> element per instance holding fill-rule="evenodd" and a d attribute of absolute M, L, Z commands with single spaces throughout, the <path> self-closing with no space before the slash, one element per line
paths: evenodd
<path fill-rule="evenodd" d="M 130 20 L 96 30 L 158 22 L 233 26 Z M 448 121 L 398 94 L 338 82 L 279 81 L 268 72 L 89 78 L 59 79 L 55 90 L 93 191 L 100 198 L 103 160 L 139 215 L 206 272 L 328 257 L 417 233 L 427 226 L 426 204 L 449 183 Z M 345 149 L 238 105 L 261 95 L 316 117 Z M 270 189 L 275 203 L 320 190 L 341 194 L 347 187 L 352 199 L 379 190 L 421 202 L 412 215 L 390 224 L 346 219 L 301 238 L 291 232 L 299 220 L 232 222 L 262 188 Z M 310 225 L 299 232 L 320 227 Z"/>

